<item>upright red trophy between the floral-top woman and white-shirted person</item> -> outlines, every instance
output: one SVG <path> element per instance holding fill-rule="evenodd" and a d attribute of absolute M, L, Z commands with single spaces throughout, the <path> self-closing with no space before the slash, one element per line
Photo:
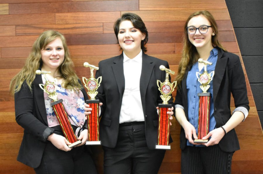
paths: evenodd
<path fill-rule="evenodd" d="M 93 70 L 98 70 L 99 68 L 94 65 L 90 65 L 88 62 L 84 62 L 84 67 L 90 68 L 90 78 L 87 79 L 82 77 L 82 81 L 85 87 L 88 89 L 88 95 L 90 100 L 86 100 L 86 103 L 89 104 L 92 108 L 91 114 L 88 115 L 88 140 L 86 145 L 100 145 L 100 134 L 99 134 L 99 100 L 95 99 L 95 96 L 98 94 L 97 89 L 100 86 L 102 77 L 94 78 Z"/>

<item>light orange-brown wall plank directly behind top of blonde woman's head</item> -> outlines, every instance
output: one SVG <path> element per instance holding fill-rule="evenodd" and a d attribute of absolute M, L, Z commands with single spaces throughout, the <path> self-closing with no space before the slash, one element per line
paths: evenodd
<path fill-rule="evenodd" d="M 40 35 L 46 30 L 57 30 L 63 34 L 95 34 L 102 33 L 102 23 L 18 25 L 15 33 L 16 36 Z"/>

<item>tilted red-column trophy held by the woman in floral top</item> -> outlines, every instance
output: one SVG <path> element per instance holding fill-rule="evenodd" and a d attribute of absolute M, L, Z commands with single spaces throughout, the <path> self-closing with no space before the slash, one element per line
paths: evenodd
<path fill-rule="evenodd" d="M 43 74 L 46 80 L 45 84 L 39 84 L 39 87 L 49 95 L 49 98 L 53 100 L 51 106 L 56 114 L 59 125 L 63 131 L 65 138 L 71 145 L 68 145 L 69 148 L 75 147 L 76 145 L 81 144 L 81 140 L 77 140 L 77 136 L 75 135 L 70 120 L 68 118 L 68 114 L 66 113 L 64 106 L 62 104 L 63 99 L 57 99 L 58 93 L 56 92 L 56 79 L 54 82 L 50 82 L 46 77 L 47 73 L 51 73 L 50 71 L 40 71 L 37 70 L 36 74 Z"/>

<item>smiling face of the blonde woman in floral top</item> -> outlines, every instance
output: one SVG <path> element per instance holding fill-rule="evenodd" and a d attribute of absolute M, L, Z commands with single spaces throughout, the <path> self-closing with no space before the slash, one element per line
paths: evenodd
<path fill-rule="evenodd" d="M 62 64 L 65 57 L 65 50 L 60 38 L 56 38 L 41 50 L 43 61 L 42 69 L 54 72 Z"/>

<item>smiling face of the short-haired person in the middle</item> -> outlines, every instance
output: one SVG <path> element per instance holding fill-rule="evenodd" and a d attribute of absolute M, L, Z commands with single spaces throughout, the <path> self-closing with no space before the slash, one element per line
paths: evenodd
<path fill-rule="evenodd" d="M 119 26 L 118 41 L 124 53 L 133 58 L 141 51 L 141 41 L 145 38 L 139 29 L 134 28 L 129 20 L 122 21 Z M 129 56 L 130 55 L 130 56 Z"/>

